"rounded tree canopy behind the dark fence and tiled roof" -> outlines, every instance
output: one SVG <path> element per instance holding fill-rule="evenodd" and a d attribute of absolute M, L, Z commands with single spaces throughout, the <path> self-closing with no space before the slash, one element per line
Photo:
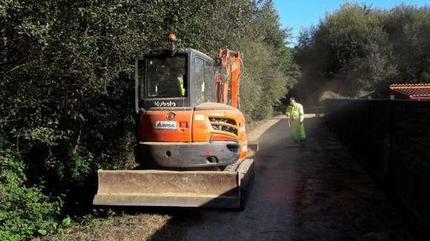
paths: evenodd
<path fill-rule="evenodd" d="M 429 35 L 428 6 L 344 3 L 301 31 L 299 92 L 313 100 L 323 91 L 361 97 L 391 83 L 430 82 Z"/>

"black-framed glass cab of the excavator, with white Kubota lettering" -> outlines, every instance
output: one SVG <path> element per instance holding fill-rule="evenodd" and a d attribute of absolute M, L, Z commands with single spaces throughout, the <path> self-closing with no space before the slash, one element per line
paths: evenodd
<path fill-rule="evenodd" d="M 136 105 L 192 108 L 216 102 L 214 60 L 193 49 L 149 51 L 136 65 Z"/>

